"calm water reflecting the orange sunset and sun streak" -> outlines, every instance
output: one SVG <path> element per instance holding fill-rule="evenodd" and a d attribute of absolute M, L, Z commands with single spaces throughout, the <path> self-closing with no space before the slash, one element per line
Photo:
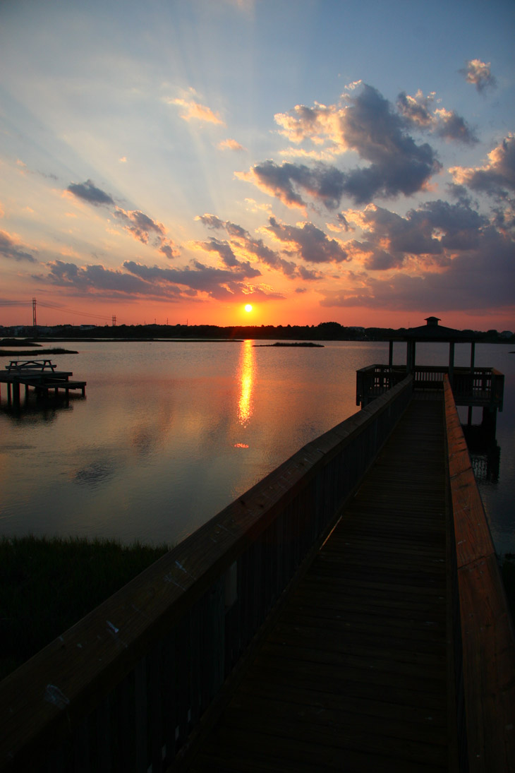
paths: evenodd
<path fill-rule="evenodd" d="M 54 357 L 86 380 L 80 397 L 0 406 L 0 533 L 178 543 L 303 444 L 354 414 L 355 372 L 388 362 L 388 343 L 323 349 L 254 342 L 80 342 Z M 256 342 L 263 344 L 263 342 Z M 499 553 L 515 552 L 515 355 L 476 346 L 506 374 L 500 472 L 479 482 Z M 14 355 L 12 355 L 14 356 Z M 405 346 L 395 347 L 405 362 Z M 417 361 L 444 364 L 446 345 Z M 7 361 L 7 360 L 5 360 Z M 456 346 L 456 365 L 469 347 Z"/>

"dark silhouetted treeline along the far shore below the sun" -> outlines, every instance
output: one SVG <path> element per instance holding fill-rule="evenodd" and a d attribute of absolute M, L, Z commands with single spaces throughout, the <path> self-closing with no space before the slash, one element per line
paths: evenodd
<path fill-rule="evenodd" d="M 8 335 L 5 329 L 5 334 Z M 0 331 L 1 332 L 1 331 Z M 24 335 L 32 339 L 279 339 L 284 341 L 388 341 L 402 336 L 405 328 L 345 327 L 339 322 L 320 322 L 320 325 L 104 325 L 81 327 L 55 325 L 37 331 L 27 327 Z M 468 335 L 483 342 L 515 342 L 515 335 L 507 336 L 496 330 Z M 21 335 L 21 333 L 20 333 Z"/>

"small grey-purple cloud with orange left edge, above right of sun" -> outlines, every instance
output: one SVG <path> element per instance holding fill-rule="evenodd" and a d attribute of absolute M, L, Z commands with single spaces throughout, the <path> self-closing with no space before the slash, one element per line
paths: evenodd
<path fill-rule="evenodd" d="M 341 244 L 327 237 L 327 234 L 313 223 L 287 226 L 271 217 L 266 230 L 277 240 L 286 242 L 290 254 L 298 254 L 308 263 L 341 263 L 349 259 Z"/>

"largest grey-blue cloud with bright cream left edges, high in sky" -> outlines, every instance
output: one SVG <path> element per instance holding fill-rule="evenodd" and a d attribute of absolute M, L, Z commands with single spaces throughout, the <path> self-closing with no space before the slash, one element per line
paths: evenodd
<path fill-rule="evenodd" d="M 336 209 L 343 196 L 357 204 L 369 203 L 375 196 L 411 196 L 442 168 L 431 146 L 417 145 L 406 132 L 405 118 L 366 83 L 343 94 L 341 104 L 297 105 L 289 114 L 276 115 L 276 121 L 283 127 L 281 134 L 293 143 L 310 140 L 320 146 L 328 141 L 334 155 L 353 151 L 368 163 L 344 172 L 323 162 L 308 167 L 267 160 L 237 174 L 286 206 L 305 209 L 300 190 L 327 209 Z M 452 121 L 456 123 L 451 117 L 439 119 L 448 134 L 457 131 Z"/>

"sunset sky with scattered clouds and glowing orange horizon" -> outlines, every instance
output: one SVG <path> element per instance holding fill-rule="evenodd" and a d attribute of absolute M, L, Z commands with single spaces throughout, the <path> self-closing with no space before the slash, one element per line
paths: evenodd
<path fill-rule="evenodd" d="M 0 0 L 0 325 L 515 330 L 514 39 L 513 0 Z"/>

